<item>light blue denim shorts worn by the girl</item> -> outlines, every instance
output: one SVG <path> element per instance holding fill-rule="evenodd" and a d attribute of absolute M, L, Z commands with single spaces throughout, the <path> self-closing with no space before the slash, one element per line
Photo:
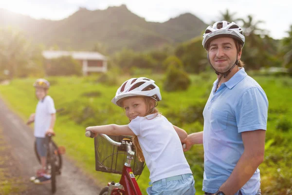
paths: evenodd
<path fill-rule="evenodd" d="M 147 188 L 147 195 L 195 195 L 194 177 L 185 175 L 182 175 L 183 178 L 180 180 L 166 182 L 164 178 L 159 184 L 154 182 Z"/>

